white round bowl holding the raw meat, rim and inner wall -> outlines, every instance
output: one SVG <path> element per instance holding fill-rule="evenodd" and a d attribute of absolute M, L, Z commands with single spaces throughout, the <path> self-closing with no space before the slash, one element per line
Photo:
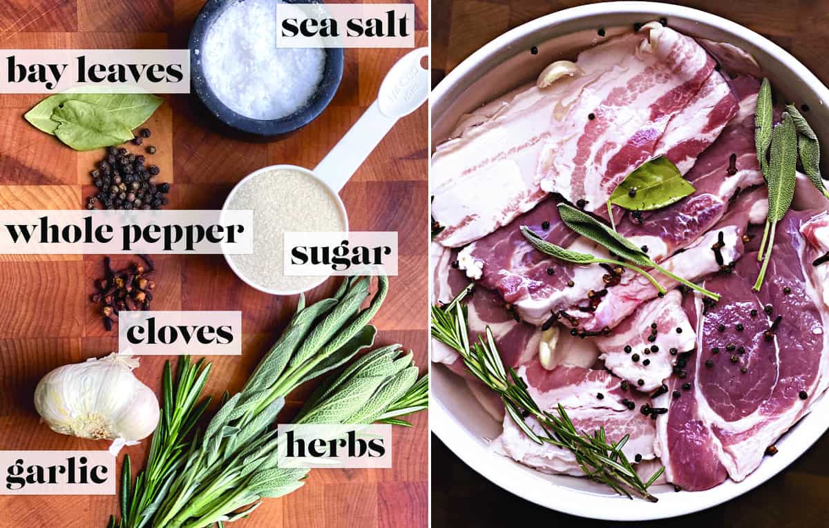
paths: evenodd
<path fill-rule="evenodd" d="M 829 90 L 805 66 L 754 31 L 686 7 L 655 2 L 607 2 L 574 7 L 528 22 L 483 46 L 452 70 L 430 98 L 432 142 L 448 137 L 463 113 L 535 79 L 544 65 L 572 58 L 590 46 L 599 27 L 612 35 L 614 26 L 630 27 L 667 17 L 668 25 L 691 36 L 724 41 L 748 51 L 759 61 L 776 90 L 810 107 L 809 122 L 819 137 L 829 137 Z M 539 54 L 528 50 L 537 46 Z M 547 59 L 547 60 L 545 60 Z M 500 425 L 478 404 L 465 383 L 435 365 L 431 376 L 429 421 L 439 438 L 470 467 L 509 492 L 541 506 L 577 516 L 612 521 L 643 521 L 680 516 L 728 501 L 786 468 L 829 427 L 829 399 L 823 397 L 777 443 L 779 453 L 766 457 L 743 482 L 726 481 L 705 492 L 676 493 L 671 486 L 652 487 L 657 503 L 613 494 L 585 478 L 550 476 L 493 454 L 487 440 Z"/>

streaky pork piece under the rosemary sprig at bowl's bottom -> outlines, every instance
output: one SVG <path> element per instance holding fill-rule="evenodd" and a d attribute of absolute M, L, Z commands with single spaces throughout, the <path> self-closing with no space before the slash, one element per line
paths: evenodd
<path fill-rule="evenodd" d="M 639 408 L 647 403 L 647 396 L 623 391 L 620 388 L 622 380 L 610 372 L 563 365 L 547 371 L 538 362 L 533 362 L 521 366 L 518 374 L 526 380 L 527 390 L 542 410 L 555 414 L 561 404 L 576 430 L 594 434 L 604 427 L 608 441 L 618 442 L 629 434 L 630 439 L 622 450 L 631 463 L 636 455 L 642 455 L 642 460 L 656 457 L 653 450 L 655 422 L 639 412 Z M 526 423 L 536 432 L 542 432 L 536 420 L 527 418 Z M 509 416 L 504 419 L 504 432 L 493 441 L 492 448 L 543 473 L 584 476 L 569 449 L 536 444 Z"/>

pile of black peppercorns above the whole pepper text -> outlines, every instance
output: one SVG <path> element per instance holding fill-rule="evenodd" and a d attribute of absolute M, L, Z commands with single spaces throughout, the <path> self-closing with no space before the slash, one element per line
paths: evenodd
<path fill-rule="evenodd" d="M 133 143 L 141 145 L 142 137 L 150 137 L 148 128 L 143 128 Z M 148 146 L 148 152 L 155 152 Z M 98 193 L 90 196 L 86 209 L 161 209 L 169 200 L 170 184 L 158 183 L 156 176 L 161 172 L 158 166 L 145 166 L 143 155 L 136 155 L 126 148 L 110 146 L 107 156 L 98 164 L 91 175 Z"/>

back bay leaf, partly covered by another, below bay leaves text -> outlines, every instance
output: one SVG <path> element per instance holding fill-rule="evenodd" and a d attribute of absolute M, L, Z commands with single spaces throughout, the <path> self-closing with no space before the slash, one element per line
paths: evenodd
<path fill-rule="evenodd" d="M 55 94 L 37 103 L 23 118 L 38 130 L 55 135 L 60 122 L 52 118 L 52 113 L 66 101 L 95 105 L 132 130 L 147 121 L 164 99 L 153 94 Z"/>

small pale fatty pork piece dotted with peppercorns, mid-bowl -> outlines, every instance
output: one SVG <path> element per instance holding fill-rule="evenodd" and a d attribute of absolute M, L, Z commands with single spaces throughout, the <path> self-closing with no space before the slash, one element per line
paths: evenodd
<path fill-rule="evenodd" d="M 676 348 L 679 352 L 687 352 L 696 345 L 696 333 L 682 310 L 681 302 L 679 291 L 669 291 L 664 298 L 648 301 L 631 315 L 632 325 L 628 331 L 614 330 L 609 336 L 595 338 L 602 351 L 599 359 L 604 360 L 604 366 L 631 382 L 632 386 L 638 386 L 638 381 L 642 380 L 644 384 L 639 386 L 640 391 L 653 391 L 662 386 L 662 382 L 671 376 L 676 361 L 676 356 L 668 351 Z M 647 336 L 651 334 L 654 322 L 660 332 L 656 341 L 651 343 L 647 341 Z M 681 329 L 681 333 L 677 333 L 676 329 Z M 631 353 L 624 352 L 626 345 L 633 349 Z M 650 352 L 652 345 L 657 345 L 657 353 Z M 644 352 L 646 349 L 647 353 Z M 639 356 L 638 362 L 631 359 L 634 353 Z M 647 366 L 644 364 L 646 359 L 649 362 Z"/>

